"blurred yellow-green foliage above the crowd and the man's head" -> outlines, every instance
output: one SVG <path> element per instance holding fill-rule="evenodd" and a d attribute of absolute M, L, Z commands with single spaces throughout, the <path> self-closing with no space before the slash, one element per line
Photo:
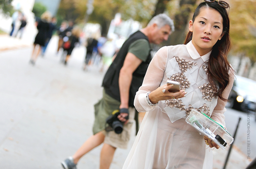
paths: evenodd
<path fill-rule="evenodd" d="M 114 19 L 116 13 L 121 13 L 123 19 L 134 19 L 140 22 L 147 22 L 155 10 L 157 0 L 94 0 L 93 12 L 89 17 L 89 22 L 103 23 Z M 72 12 L 71 12 L 72 11 Z M 82 0 L 62 0 L 58 15 L 65 19 L 76 19 L 82 22 L 87 11 L 87 1 Z M 72 14 L 67 14 L 72 13 Z M 72 16 L 68 16 L 72 15 Z M 104 19 L 104 21 L 102 21 Z"/>

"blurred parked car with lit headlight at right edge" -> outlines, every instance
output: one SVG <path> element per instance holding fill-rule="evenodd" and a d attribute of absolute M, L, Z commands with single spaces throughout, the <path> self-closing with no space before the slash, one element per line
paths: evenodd
<path fill-rule="evenodd" d="M 256 112 L 256 81 L 238 75 L 235 77 L 229 94 L 230 107 L 245 112 Z"/>

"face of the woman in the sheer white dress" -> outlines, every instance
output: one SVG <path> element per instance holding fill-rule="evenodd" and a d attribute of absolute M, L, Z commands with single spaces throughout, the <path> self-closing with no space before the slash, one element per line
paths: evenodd
<path fill-rule="evenodd" d="M 222 30 L 223 18 L 213 8 L 202 7 L 194 23 L 189 22 L 189 31 L 193 32 L 192 43 L 201 56 L 210 52 L 222 38 Z"/>

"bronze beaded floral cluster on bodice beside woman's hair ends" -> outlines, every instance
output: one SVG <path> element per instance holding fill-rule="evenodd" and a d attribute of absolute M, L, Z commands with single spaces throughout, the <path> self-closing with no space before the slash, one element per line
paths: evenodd
<path fill-rule="evenodd" d="M 203 99 L 207 101 L 211 101 L 211 99 L 214 99 L 217 93 L 215 88 L 216 87 L 213 87 L 210 83 L 199 86 L 199 89 L 201 90 L 201 93 L 203 95 Z"/>

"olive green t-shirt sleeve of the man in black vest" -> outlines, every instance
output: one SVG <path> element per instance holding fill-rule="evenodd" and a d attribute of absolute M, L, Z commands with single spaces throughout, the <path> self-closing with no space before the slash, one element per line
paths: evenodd
<path fill-rule="evenodd" d="M 141 59 L 143 62 L 146 62 L 150 52 L 149 42 L 146 39 L 136 40 L 130 45 L 128 52 L 134 54 L 137 58 Z"/>

